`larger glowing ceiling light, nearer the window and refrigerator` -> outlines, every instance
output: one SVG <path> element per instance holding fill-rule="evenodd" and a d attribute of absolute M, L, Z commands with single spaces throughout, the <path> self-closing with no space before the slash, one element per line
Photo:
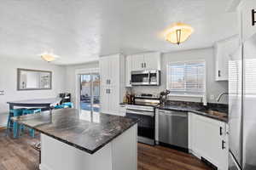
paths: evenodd
<path fill-rule="evenodd" d="M 166 41 L 180 44 L 186 41 L 193 32 L 194 29 L 191 26 L 177 22 L 166 31 Z"/>

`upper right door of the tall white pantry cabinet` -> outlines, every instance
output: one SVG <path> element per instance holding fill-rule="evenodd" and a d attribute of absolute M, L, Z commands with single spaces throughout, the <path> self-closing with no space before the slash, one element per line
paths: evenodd
<path fill-rule="evenodd" d="M 109 61 L 108 85 L 109 86 L 117 86 L 119 84 L 119 74 L 120 74 L 119 54 L 112 55 L 112 56 L 108 57 L 108 61 Z M 123 68 L 123 69 L 125 69 L 125 68 Z"/>

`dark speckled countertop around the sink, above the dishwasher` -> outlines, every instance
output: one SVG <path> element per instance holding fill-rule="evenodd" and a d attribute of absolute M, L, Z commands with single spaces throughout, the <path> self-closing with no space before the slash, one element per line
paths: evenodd
<path fill-rule="evenodd" d="M 207 116 L 218 121 L 229 122 L 228 105 L 208 104 L 208 106 L 204 106 L 193 102 L 169 102 L 166 105 L 159 105 L 158 109 L 166 111 L 188 111 L 197 115 Z M 222 116 L 212 115 L 207 111 L 218 111 Z"/>

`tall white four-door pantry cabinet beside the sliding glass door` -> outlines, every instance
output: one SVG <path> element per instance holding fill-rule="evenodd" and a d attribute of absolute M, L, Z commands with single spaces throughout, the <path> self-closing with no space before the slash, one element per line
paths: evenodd
<path fill-rule="evenodd" d="M 121 54 L 100 58 L 101 112 L 119 115 L 125 95 L 125 57 Z"/>

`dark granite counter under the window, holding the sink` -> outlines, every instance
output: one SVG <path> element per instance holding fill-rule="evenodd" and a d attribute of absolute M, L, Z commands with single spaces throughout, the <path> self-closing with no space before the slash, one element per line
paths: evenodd
<path fill-rule="evenodd" d="M 207 116 L 212 119 L 216 119 L 222 122 L 229 122 L 228 110 L 226 108 L 218 107 L 218 105 L 211 105 L 210 107 L 201 106 L 201 105 L 175 105 L 175 104 L 166 104 L 159 105 L 158 109 L 166 111 L 188 111 L 195 113 L 201 116 Z M 209 113 L 209 111 L 215 111 L 215 115 Z"/>

